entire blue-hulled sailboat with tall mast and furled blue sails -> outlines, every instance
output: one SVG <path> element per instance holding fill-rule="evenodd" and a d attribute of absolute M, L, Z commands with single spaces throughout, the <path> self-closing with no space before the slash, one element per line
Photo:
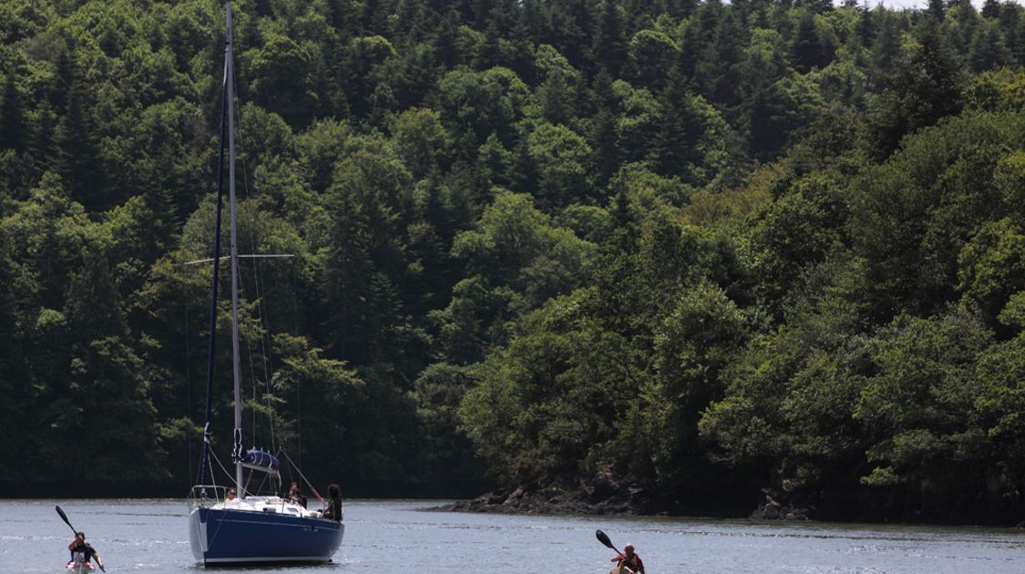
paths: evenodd
<path fill-rule="evenodd" d="M 238 327 L 238 265 L 235 220 L 235 102 L 232 3 L 225 2 L 228 39 L 224 47 L 224 85 L 221 95 L 221 145 L 217 176 L 217 213 L 214 232 L 213 281 L 211 285 L 210 343 L 207 364 L 206 424 L 198 484 L 189 498 L 189 542 L 193 557 L 204 566 L 326 563 L 341 545 L 344 525 L 324 511 L 306 509 L 302 504 L 277 494 L 256 495 L 246 491 L 244 473 L 260 473 L 280 486 L 278 458 L 269 452 L 245 450 L 242 428 L 241 369 Z M 229 220 L 231 254 L 227 257 L 232 290 L 232 357 L 235 382 L 235 462 L 234 488 L 212 480 L 210 464 L 211 402 L 215 351 L 217 276 L 220 271 L 220 215 L 223 204 L 224 139 L 228 140 Z M 210 470 L 208 473 L 208 470 Z M 315 490 L 316 493 L 316 490 Z M 339 512 L 340 515 L 340 512 Z M 339 516 L 340 519 L 340 516 Z"/>

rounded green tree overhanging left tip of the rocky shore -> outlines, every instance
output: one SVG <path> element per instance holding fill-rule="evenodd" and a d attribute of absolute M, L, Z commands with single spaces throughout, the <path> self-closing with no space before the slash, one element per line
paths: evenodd
<path fill-rule="evenodd" d="M 593 470 L 632 393 L 621 339 L 581 316 L 579 294 L 523 318 L 507 348 L 481 365 L 459 415 L 503 482 L 537 484 Z M 634 383 L 636 384 L 636 383 Z M 589 467 L 589 468 L 588 468 Z"/>

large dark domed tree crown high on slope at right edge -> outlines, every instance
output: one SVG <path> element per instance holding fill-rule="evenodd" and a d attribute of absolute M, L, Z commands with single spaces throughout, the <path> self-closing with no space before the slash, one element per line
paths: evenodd
<path fill-rule="evenodd" d="M 1018 146 L 1020 122 L 1020 115 L 945 122 L 864 174 L 851 237 L 865 259 L 867 300 L 884 321 L 894 310 L 928 316 L 953 300 L 961 246 L 982 223 L 1010 214 L 991 181 L 1007 146 Z"/>

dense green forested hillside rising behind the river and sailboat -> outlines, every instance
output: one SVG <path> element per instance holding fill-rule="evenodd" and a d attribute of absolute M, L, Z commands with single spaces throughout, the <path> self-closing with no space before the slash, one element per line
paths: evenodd
<path fill-rule="evenodd" d="M 233 11 L 240 250 L 295 255 L 243 268 L 247 425 L 318 485 L 1025 519 L 1020 4 Z M 8 493 L 195 479 L 223 17 L 0 0 Z"/>

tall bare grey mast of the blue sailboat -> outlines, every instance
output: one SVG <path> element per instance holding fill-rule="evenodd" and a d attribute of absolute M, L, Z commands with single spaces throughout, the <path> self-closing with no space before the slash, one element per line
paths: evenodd
<path fill-rule="evenodd" d="M 232 377 L 235 380 L 235 487 L 240 498 L 246 493 L 242 488 L 242 369 L 239 365 L 239 247 L 235 224 L 235 54 L 232 49 L 232 1 L 225 3 L 228 12 L 228 42 L 224 48 L 224 89 L 228 93 L 228 205 L 232 228 Z"/>

